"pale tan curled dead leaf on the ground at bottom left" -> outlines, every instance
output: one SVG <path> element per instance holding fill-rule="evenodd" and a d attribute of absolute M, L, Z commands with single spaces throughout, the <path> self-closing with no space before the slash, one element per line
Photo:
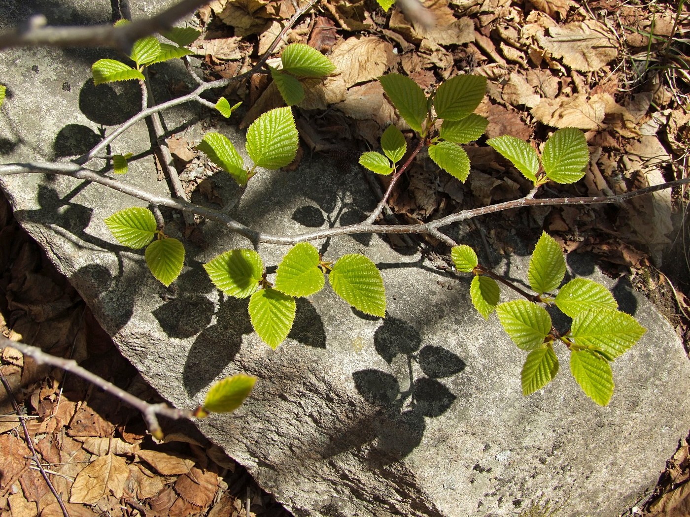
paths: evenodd
<path fill-rule="evenodd" d="M 70 491 L 70 503 L 92 505 L 112 491 L 121 497 L 129 477 L 124 458 L 108 454 L 93 460 L 79 472 Z"/>

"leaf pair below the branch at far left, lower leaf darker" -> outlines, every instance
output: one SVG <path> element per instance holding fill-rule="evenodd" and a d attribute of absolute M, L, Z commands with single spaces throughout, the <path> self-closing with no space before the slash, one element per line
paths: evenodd
<path fill-rule="evenodd" d="M 121 245 L 135 249 L 146 246 L 146 264 L 163 285 L 167 287 L 179 276 L 184 265 L 184 246 L 157 229 L 156 219 L 150 210 L 126 208 L 106 217 L 105 222 Z M 158 239 L 151 242 L 156 234 Z"/>

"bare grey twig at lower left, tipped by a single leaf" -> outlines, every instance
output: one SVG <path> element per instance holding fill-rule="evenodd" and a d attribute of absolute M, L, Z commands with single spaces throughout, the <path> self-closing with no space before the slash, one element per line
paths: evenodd
<path fill-rule="evenodd" d="M 75 374 L 92 383 L 93 385 L 103 389 L 104 392 L 108 392 L 111 395 L 119 398 L 124 403 L 129 404 L 135 409 L 139 409 L 141 414 L 144 416 L 144 420 L 146 421 L 149 432 L 157 438 L 162 436 L 161 426 L 158 423 L 157 415 L 166 416 L 173 419 L 192 418 L 193 416 L 192 412 L 186 409 L 177 409 L 164 403 L 150 404 L 146 401 L 142 401 L 141 398 L 138 398 L 137 396 L 126 392 L 124 389 L 109 383 L 104 378 L 101 378 L 96 374 L 92 374 L 88 371 L 88 369 L 82 368 L 77 364 L 77 361 L 74 361 L 73 359 L 64 359 L 61 357 L 51 356 L 50 354 L 43 352 L 43 350 L 38 347 L 32 347 L 30 345 L 25 345 L 24 343 L 17 343 L 16 341 L 11 341 L 5 336 L 0 336 L 0 348 L 5 347 L 12 347 L 19 350 L 19 352 L 25 356 L 34 358 L 34 360 L 39 364 L 55 366 L 63 369 L 65 372 Z M 5 384 L 4 381 L 3 384 Z M 8 389 L 8 387 L 9 385 L 6 385 L 5 389 Z M 19 410 L 18 406 L 15 408 L 15 410 Z M 26 426 L 23 427 L 25 427 L 26 431 Z"/>

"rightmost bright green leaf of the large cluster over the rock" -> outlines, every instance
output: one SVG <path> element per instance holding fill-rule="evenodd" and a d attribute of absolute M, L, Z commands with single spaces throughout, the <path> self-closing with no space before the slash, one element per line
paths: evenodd
<path fill-rule="evenodd" d="M 573 316 L 571 338 L 576 345 L 601 350 L 616 358 L 647 332 L 635 318 L 617 309 L 598 307 Z"/>

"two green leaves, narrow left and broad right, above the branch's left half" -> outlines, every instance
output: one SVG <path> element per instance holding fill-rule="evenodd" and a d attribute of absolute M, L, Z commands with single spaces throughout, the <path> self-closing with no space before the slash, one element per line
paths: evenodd
<path fill-rule="evenodd" d="M 262 114 L 247 130 L 246 150 L 254 161 L 254 168 L 275 170 L 285 167 L 295 159 L 298 143 L 295 119 L 290 108 L 275 108 Z M 239 185 L 246 185 L 250 176 L 244 159 L 227 136 L 206 133 L 197 149 L 233 176 Z"/>

